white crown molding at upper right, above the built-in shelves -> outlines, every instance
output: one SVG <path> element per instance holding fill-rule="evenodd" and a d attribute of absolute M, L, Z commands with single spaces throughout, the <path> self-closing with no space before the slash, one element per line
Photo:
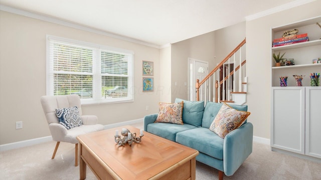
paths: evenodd
<path fill-rule="evenodd" d="M 300 6 L 300 5 L 303 5 L 303 4 L 312 2 L 312 1 L 316 1 L 316 0 L 295 0 L 295 1 L 283 4 L 283 5 L 279 5 L 277 7 L 273 7 L 273 8 L 270 8 L 270 9 L 267 9 L 267 10 L 252 14 L 252 15 L 248 15 L 248 16 L 245 17 L 245 20 L 246 21 L 254 20 L 254 19 L 266 16 L 266 15 L 270 15 L 270 14 L 273 14 L 273 13 L 276 13 L 276 12 L 280 12 L 280 11 L 283 11 L 283 10 L 286 10 L 286 9 L 290 9 L 290 8 L 293 8 L 293 7 L 296 7 L 296 6 Z"/>

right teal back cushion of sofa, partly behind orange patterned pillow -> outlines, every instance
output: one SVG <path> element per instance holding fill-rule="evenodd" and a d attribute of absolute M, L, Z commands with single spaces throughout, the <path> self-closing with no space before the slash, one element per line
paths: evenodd
<path fill-rule="evenodd" d="M 210 102 L 210 101 L 206 103 L 204 108 L 204 113 L 203 113 L 203 119 L 202 119 L 202 127 L 210 128 L 211 123 L 213 122 L 214 118 L 219 112 L 222 104 L 223 103 Z M 247 111 L 247 105 L 232 104 L 230 106 L 237 110 Z M 243 123 L 246 123 L 246 120 Z"/>

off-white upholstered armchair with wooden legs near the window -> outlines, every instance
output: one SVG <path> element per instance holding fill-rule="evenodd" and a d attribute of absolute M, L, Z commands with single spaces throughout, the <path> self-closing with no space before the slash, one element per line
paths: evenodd
<path fill-rule="evenodd" d="M 78 166 L 78 140 L 77 136 L 103 130 L 102 124 L 97 124 L 98 118 L 96 115 L 82 115 L 80 97 L 77 94 L 71 95 L 45 95 L 41 97 L 42 108 L 45 112 L 48 121 L 52 139 L 57 141 L 52 159 L 55 158 L 58 146 L 61 141 L 75 144 L 75 166 Z M 77 106 L 83 125 L 68 129 L 59 123 L 56 109 Z"/>

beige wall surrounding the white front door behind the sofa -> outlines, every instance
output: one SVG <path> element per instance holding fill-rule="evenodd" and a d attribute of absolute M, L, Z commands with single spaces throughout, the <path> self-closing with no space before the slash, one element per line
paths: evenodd
<path fill-rule="evenodd" d="M 176 97 L 188 99 L 188 58 L 209 62 L 214 68 L 215 34 L 209 32 L 172 44 L 172 102 Z M 177 85 L 175 85 L 177 82 Z"/>

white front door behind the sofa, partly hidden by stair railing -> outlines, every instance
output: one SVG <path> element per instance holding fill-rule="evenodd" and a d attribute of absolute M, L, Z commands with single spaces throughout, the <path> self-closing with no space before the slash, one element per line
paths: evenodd
<path fill-rule="evenodd" d="M 209 73 L 209 63 L 205 61 L 201 61 L 198 59 L 189 58 L 189 80 L 188 80 L 188 86 L 189 86 L 189 100 L 196 100 L 196 79 L 199 79 L 200 81 L 203 80 L 206 75 Z M 208 84 L 202 85 L 199 89 L 200 96 L 204 97 L 206 92 L 208 92 Z M 208 93 L 207 93 L 208 94 Z M 208 101 L 209 97 L 206 96 L 207 99 L 204 99 L 205 101 Z"/>

